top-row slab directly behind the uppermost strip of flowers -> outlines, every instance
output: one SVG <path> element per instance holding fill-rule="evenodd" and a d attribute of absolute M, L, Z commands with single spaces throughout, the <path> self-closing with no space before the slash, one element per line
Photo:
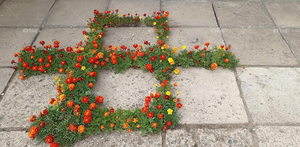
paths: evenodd
<path fill-rule="evenodd" d="M 158 12 L 160 10 L 159 0 L 112 0 L 109 3 L 108 10 L 115 11 L 119 10 L 118 14 L 128 14 L 135 15 L 138 13 L 140 16 L 144 17 L 143 14 L 151 16 L 153 12 Z"/>

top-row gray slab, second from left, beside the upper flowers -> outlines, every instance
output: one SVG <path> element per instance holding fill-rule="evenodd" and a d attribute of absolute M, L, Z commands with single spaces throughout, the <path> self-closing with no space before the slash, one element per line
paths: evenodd
<path fill-rule="evenodd" d="M 88 19 L 94 18 L 94 10 L 104 12 L 108 0 L 58 0 L 51 9 L 49 26 L 87 26 Z"/>

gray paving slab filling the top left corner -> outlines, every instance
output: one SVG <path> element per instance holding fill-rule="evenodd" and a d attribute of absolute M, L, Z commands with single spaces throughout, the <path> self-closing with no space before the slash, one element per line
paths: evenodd
<path fill-rule="evenodd" d="M 41 26 L 55 0 L 4 1 L 0 5 L 0 26 Z"/>

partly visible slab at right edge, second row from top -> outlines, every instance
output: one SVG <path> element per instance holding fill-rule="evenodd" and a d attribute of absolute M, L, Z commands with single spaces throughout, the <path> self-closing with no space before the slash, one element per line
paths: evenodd
<path fill-rule="evenodd" d="M 292 48 L 298 61 L 300 60 L 300 29 L 280 29 L 284 39 Z"/>

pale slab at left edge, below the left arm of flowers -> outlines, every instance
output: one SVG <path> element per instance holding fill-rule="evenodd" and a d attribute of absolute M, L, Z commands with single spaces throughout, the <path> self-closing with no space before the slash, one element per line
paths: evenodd
<path fill-rule="evenodd" d="M 0 128 L 29 127 L 29 117 L 38 115 L 57 96 L 54 74 L 22 81 L 17 73 L 12 78 L 0 102 Z"/>

